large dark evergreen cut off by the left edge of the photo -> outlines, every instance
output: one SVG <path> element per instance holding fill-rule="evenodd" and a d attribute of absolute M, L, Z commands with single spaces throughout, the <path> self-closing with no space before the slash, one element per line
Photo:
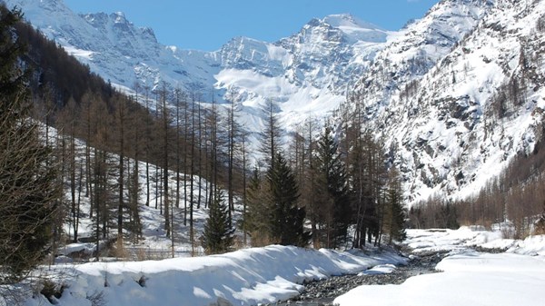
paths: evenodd
<path fill-rule="evenodd" d="M 0 5 L 0 284 L 25 279 L 45 256 L 61 196 L 51 150 L 30 118 L 15 41 L 19 12 Z"/>

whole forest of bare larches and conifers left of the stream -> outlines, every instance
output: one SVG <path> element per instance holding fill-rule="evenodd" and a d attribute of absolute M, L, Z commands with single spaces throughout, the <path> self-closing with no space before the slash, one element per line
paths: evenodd
<path fill-rule="evenodd" d="M 285 137 L 267 103 L 261 152 L 252 155 L 233 103 L 203 102 L 167 84 L 122 94 L 21 12 L 1 9 L 1 283 L 25 279 L 60 245 L 77 242 L 83 218 L 97 247 L 138 242 L 141 205 L 160 211 L 167 237 L 173 207 L 183 208 L 192 245 L 207 253 L 232 251 L 235 228 L 253 246 L 358 248 L 403 238 L 399 176 L 361 115 L 323 125 L 310 118 Z M 196 186 L 205 194 L 181 196 Z M 243 207 L 237 223 L 235 202 Z M 209 217 L 195 232 L 201 206 Z"/>

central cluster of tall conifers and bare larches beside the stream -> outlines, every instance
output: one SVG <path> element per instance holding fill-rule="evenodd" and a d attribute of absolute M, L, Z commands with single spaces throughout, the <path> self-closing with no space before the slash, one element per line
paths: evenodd
<path fill-rule="evenodd" d="M 365 130 L 362 108 L 342 106 L 336 123 L 309 119 L 289 135 L 292 143 L 282 143 L 277 108 L 272 101 L 263 107 L 262 160 L 247 186 L 243 229 L 253 245 L 360 248 L 382 237 L 402 240 L 400 177 Z"/>

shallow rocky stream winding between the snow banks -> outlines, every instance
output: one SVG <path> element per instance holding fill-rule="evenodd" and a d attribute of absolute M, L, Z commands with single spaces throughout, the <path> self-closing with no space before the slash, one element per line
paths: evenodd
<path fill-rule="evenodd" d="M 400 284 L 416 275 L 435 272 L 437 263 L 445 257 L 446 252 L 419 253 L 405 266 L 398 266 L 391 273 L 333 276 L 322 281 L 311 281 L 304 284 L 302 293 L 289 301 L 279 301 L 267 305 L 304 305 L 330 306 L 332 301 L 352 289 L 362 285 Z"/>

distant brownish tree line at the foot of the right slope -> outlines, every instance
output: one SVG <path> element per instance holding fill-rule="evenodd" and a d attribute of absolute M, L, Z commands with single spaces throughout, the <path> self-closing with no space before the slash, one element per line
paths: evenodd
<path fill-rule="evenodd" d="M 519 153 L 496 178 L 468 199 L 432 197 L 411 207 L 413 228 L 458 228 L 461 224 L 505 224 L 506 238 L 523 239 L 537 231 L 545 215 L 545 146 L 542 140 L 530 153 Z"/>

